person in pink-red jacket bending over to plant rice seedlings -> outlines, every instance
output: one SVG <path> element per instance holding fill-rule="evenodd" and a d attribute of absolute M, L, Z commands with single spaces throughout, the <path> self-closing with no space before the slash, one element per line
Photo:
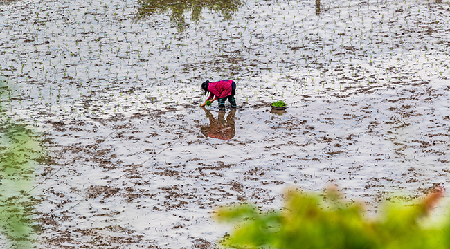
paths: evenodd
<path fill-rule="evenodd" d="M 236 83 L 233 80 L 220 80 L 218 82 L 206 82 L 201 83 L 201 89 L 206 93 L 210 93 L 209 97 L 206 101 L 213 102 L 217 100 L 219 102 L 219 108 L 225 107 L 225 100 L 228 99 L 228 102 L 231 104 L 231 108 L 236 108 Z M 201 104 L 201 107 L 206 105 L 206 101 Z"/>

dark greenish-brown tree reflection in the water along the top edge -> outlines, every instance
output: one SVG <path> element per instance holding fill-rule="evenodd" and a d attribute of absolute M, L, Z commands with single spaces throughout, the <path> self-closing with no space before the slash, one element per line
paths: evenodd
<path fill-rule="evenodd" d="M 208 8 L 220 13 L 224 19 L 230 20 L 242 3 L 240 0 L 138 0 L 140 7 L 137 12 L 137 19 L 142 19 L 148 15 L 165 13 L 170 10 L 170 21 L 177 25 L 177 30 L 186 30 L 185 13 L 190 13 L 192 21 L 198 22 L 201 19 L 201 11 Z"/>

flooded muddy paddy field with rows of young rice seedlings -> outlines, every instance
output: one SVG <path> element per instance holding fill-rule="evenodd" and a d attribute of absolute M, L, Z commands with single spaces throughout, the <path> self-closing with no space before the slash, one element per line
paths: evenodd
<path fill-rule="evenodd" d="M 1 155 L 30 162 L 1 169 L 1 208 L 28 212 L 10 212 L 28 232 L 2 218 L 4 245 L 214 248 L 227 231 L 210 218 L 217 205 L 276 208 L 291 185 L 337 185 L 371 214 L 448 186 L 446 1 L 6 1 L 0 12 L 12 127 Z M 237 83 L 237 110 L 200 109 L 199 84 L 223 78 Z M 274 100 L 287 112 L 271 113 Z"/>

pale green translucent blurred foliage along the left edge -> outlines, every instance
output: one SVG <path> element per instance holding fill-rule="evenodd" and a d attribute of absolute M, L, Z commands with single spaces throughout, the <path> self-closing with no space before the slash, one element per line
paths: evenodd
<path fill-rule="evenodd" d="M 8 85 L 0 79 L 0 228 L 9 241 L 8 248 L 33 248 L 37 201 L 28 192 L 34 185 L 35 160 L 42 149 L 32 129 L 4 115 L 8 93 Z"/>

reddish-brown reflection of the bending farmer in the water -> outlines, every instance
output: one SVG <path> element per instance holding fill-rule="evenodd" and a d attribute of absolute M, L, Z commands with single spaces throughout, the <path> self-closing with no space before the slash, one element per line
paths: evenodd
<path fill-rule="evenodd" d="M 228 116 L 226 116 L 226 120 L 225 111 L 219 111 L 219 116 L 217 117 L 217 120 L 215 120 L 210 111 L 206 108 L 202 109 L 205 111 L 206 117 L 209 118 L 209 125 L 201 127 L 201 133 L 203 133 L 204 136 L 222 140 L 229 140 L 235 136 L 236 109 L 231 109 Z"/>

